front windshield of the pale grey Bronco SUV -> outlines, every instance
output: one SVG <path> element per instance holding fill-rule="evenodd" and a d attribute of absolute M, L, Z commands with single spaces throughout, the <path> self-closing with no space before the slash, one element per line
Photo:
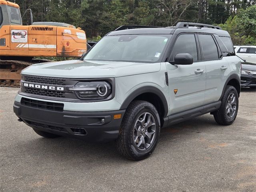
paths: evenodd
<path fill-rule="evenodd" d="M 84 60 L 157 62 L 171 35 L 105 36 Z"/>

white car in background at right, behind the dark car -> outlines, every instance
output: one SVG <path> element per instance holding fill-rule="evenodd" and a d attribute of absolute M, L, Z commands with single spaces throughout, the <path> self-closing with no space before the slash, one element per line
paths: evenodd
<path fill-rule="evenodd" d="M 256 63 L 256 46 L 234 46 L 236 55 L 246 62 Z"/>

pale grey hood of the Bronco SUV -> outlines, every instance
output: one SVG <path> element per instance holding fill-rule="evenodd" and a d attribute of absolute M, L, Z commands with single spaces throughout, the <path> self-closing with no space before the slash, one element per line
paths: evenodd
<path fill-rule="evenodd" d="M 67 60 L 31 65 L 21 74 L 61 78 L 114 78 L 160 70 L 160 63 Z"/>

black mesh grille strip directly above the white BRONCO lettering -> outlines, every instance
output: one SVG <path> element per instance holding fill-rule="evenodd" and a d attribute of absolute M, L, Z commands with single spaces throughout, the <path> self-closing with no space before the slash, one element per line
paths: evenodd
<path fill-rule="evenodd" d="M 26 82 L 51 84 L 51 85 L 66 85 L 66 80 L 61 78 L 41 77 L 32 75 L 23 75 L 22 80 Z"/>

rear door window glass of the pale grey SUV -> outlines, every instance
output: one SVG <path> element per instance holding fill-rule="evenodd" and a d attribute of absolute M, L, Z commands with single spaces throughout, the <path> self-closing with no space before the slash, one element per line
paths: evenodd
<path fill-rule="evenodd" d="M 202 46 L 202 60 L 219 59 L 218 48 L 212 38 L 212 35 L 199 34 L 198 39 Z"/>

